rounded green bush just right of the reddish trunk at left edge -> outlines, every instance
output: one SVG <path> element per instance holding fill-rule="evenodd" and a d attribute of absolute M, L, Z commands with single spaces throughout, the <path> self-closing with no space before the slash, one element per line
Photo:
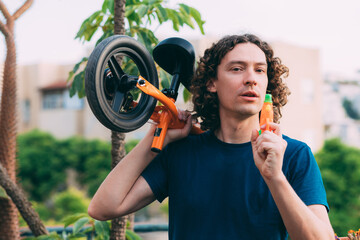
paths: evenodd
<path fill-rule="evenodd" d="M 64 159 L 58 154 L 57 140 L 34 130 L 21 134 L 18 141 L 18 176 L 31 200 L 41 201 L 56 190 L 64 189 Z"/>

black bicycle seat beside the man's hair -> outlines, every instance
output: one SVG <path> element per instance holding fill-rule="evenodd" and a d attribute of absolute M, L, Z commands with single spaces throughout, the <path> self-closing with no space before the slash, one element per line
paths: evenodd
<path fill-rule="evenodd" d="M 169 74 L 179 74 L 180 82 L 190 90 L 195 63 L 195 50 L 190 42 L 178 37 L 167 38 L 154 48 L 153 58 Z"/>

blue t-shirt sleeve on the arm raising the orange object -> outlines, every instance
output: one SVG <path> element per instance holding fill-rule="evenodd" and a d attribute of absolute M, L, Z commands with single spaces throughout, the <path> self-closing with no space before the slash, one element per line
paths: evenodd
<path fill-rule="evenodd" d="M 293 154 L 289 182 L 306 205 L 321 204 L 329 211 L 319 166 L 306 144 Z"/>

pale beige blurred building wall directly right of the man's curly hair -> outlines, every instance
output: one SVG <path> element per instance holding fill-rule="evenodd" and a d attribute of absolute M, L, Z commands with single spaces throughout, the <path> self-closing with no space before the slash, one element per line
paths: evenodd
<path fill-rule="evenodd" d="M 280 57 L 289 68 L 289 77 L 285 81 L 291 95 L 280 120 L 283 132 L 306 142 L 313 151 L 317 151 L 324 141 L 323 79 L 319 50 L 280 42 L 271 45 L 275 56 Z"/>

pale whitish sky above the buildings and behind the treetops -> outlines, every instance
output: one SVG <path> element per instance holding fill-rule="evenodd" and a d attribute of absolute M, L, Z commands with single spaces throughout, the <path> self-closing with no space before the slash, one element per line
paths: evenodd
<path fill-rule="evenodd" d="M 10 13 L 25 0 L 3 0 Z M 200 11 L 205 37 L 254 33 L 268 42 L 282 41 L 320 50 L 322 73 L 353 74 L 360 70 L 359 0 L 168 0 L 168 6 L 185 3 Z M 100 9 L 99 0 L 34 0 L 15 23 L 19 64 L 73 64 L 94 42 L 83 44 L 75 35 L 83 20 Z M 4 22 L 2 14 L 0 20 Z M 198 30 L 170 24 L 156 34 L 184 38 L 204 37 Z M 276 54 L 276 53 L 275 53 Z M 5 41 L 0 35 L 0 62 Z"/>

